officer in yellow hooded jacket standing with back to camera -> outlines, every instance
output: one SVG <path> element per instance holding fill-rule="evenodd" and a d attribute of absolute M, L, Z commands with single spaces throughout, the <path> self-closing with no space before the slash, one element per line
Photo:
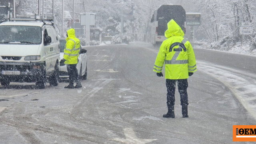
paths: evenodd
<path fill-rule="evenodd" d="M 165 32 L 167 38 L 160 46 L 153 71 L 157 76 L 163 76 L 162 68 L 165 68 L 165 78 L 167 87 L 167 107 L 168 112 L 164 118 L 174 118 L 175 86 L 178 85 L 180 93 L 180 104 L 182 106 L 182 117 L 188 117 L 188 76 L 196 71 L 196 58 L 193 48 L 186 39 L 180 26 L 170 20 L 167 24 L 168 30 Z"/>

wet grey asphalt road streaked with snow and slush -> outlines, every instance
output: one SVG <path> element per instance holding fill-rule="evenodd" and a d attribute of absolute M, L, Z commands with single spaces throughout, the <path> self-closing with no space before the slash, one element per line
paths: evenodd
<path fill-rule="evenodd" d="M 232 125 L 255 125 L 254 57 L 195 49 L 189 118 L 182 118 L 177 90 L 176 117 L 162 118 L 165 79 L 152 71 L 158 48 L 86 49 L 83 88 L 64 89 L 65 81 L 44 90 L 34 83 L 0 86 L 1 144 L 230 144 Z"/>

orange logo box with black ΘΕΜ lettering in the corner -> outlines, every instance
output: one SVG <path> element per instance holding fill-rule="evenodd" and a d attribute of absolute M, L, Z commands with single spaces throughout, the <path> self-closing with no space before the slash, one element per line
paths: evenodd
<path fill-rule="evenodd" d="M 233 142 L 256 142 L 256 126 L 234 125 Z"/>

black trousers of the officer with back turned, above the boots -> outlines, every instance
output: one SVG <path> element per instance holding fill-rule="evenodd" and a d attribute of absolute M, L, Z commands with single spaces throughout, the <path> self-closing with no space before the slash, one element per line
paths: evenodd
<path fill-rule="evenodd" d="M 166 79 L 166 87 L 167 87 L 167 102 L 174 105 L 175 102 L 175 87 L 176 82 L 178 85 L 178 91 L 180 93 L 180 105 L 188 105 L 188 79 L 179 79 L 179 80 L 170 80 Z"/>

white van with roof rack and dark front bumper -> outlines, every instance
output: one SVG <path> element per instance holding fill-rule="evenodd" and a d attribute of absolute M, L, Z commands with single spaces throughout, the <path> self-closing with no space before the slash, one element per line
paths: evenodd
<path fill-rule="evenodd" d="M 60 42 L 52 23 L 42 21 L 0 24 L 0 83 L 36 82 L 45 88 L 46 78 L 58 86 Z"/>

